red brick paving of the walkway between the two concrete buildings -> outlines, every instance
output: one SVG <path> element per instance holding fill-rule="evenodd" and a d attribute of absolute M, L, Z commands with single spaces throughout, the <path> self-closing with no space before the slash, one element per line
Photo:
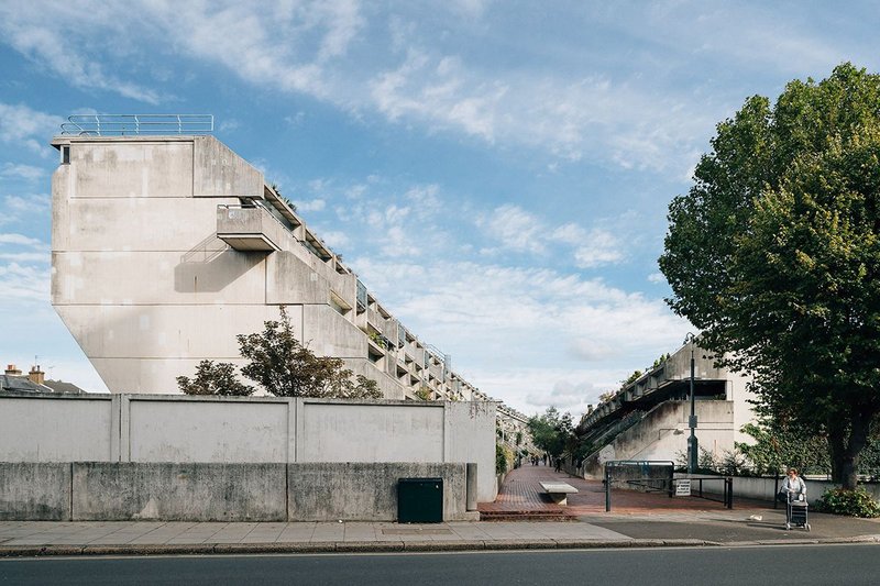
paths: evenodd
<path fill-rule="evenodd" d="M 565 482 L 578 489 L 576 495 L 568 496 L 568 507 L 560 507 L 542 494 L 540 482 Z M 735 499 L 734 507 L 754 506 L 755 501 Z M 766 502 L 759 505 L 766 506 Z M 562 512 L 580 516 L 605 512 L 605 486 L 601 480 L 585 480 L 565 473 L 553 472 L 552 466 L 526 464 L 507 474 L 495 502 L 481 502 L 481 512 L 501 513 L 516 511 Z M 697 497 L 670 497 L 664 493 L 640 493 L 612 488 L 613 512 L 650 511 L 671 512 L 675 510 L 722 510 L 722 502 Z"/>

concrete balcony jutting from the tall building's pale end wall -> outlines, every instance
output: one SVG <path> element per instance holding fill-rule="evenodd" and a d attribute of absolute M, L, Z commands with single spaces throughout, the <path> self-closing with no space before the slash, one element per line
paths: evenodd
<path fill-rule="evenodd" d="M 217 237 L 237 251 L 280 251 L 286 229 L 260 207 L 217 207 Z"/>

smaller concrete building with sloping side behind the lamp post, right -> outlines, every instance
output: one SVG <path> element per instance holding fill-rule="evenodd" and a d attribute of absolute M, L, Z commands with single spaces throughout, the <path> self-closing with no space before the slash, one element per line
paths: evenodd
<path fill-rule="evenodd" d="M 676 462 L 686 454 L 692 351 L 700 451 L 721 460 L 735 442 L 751 441 L 740 431 L 755 418 L 750 379 L 717 367 L 713 356 L 689 344 L 584 413 L 576 433 L 593 453 L 583 474 L 602 477 L 610 460 Z"/>

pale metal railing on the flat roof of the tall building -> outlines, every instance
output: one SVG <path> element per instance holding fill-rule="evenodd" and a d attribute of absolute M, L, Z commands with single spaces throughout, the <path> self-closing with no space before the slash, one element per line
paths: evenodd
<path fill-rule="evenodd" d="M 62 124 L 62 134 L 77 136 L 128 136 L 210 134 L 212 114 L 73 114 Z"/>

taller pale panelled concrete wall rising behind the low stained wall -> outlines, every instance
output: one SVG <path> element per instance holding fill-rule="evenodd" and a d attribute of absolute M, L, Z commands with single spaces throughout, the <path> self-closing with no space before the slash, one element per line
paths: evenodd
<path fill-rule="evenodd" d="M 495 403 L 0 394 L 0 462 L 473 462 L 495 499 Z"/>

